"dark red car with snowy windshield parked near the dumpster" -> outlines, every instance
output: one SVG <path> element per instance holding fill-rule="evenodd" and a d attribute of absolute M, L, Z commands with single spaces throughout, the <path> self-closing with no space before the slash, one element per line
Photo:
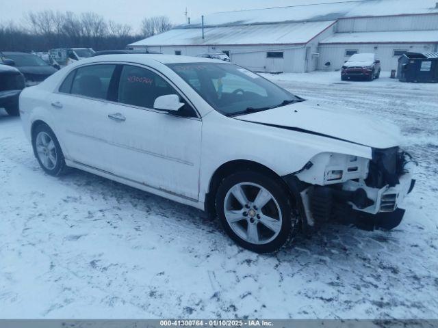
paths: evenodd
<path fill-rule="evenodd" d="M 341 70 L 342 81 L 348 79 L 367 79 L 372 81 L 381 75 L 381 61 L 374 53 L 355 53 L 344 63 Z"/>

